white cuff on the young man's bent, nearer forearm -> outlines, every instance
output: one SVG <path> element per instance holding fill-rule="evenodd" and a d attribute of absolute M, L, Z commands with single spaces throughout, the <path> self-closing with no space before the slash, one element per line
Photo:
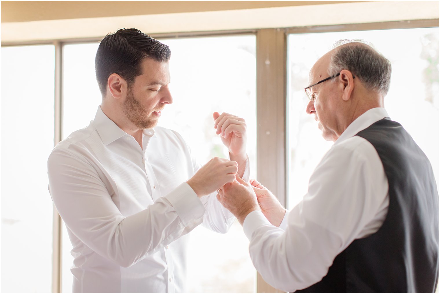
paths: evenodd
<path fill-rule="evenodd" d="M 187 182 L 183 182 L 164 197 L 176 209 L 177 215 L 185 227 L 205 214 L 205 206 Z"/>

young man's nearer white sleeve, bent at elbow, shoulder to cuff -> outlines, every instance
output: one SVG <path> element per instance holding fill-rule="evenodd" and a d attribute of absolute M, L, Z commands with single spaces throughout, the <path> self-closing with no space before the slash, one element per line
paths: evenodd
<path fill-rule="evenodd" d="M 205 207 L 188 184 L 125 217 L 97 171 L 68 151 L 48 160 L 49 190 L 66 226 L 99 255 L 129 267 L 202 222 Z"/>

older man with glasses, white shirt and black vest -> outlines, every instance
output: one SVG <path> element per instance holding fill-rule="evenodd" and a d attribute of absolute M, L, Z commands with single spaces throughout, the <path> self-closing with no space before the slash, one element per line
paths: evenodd
<path fill-rule="evenodd" d="M 240 178 L 217 198 L 243 224 L 272 286 L 298 292 L 433 292 L 439 199 L 428 158 L 384 106 L 390 62 L 342 41 L 310 71 L 307 113 L 334 145 L 292 211 Z M 404 85 L 402 85 L 404 86 Z"/>

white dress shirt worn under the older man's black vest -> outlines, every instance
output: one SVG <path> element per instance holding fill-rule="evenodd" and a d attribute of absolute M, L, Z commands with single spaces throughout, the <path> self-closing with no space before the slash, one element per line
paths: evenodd
<path fill-rule="evenodd" d="M 388 180 L 373 145 L 355 135 L 385 117 L 384 108 L 374 108 L 348 126 L 279 228 L 260 211 L 246 217 L 251 259 L 270 285 L 293 292 L 319 282 L 353 240 L 381 227 L 389 206 Z"/>

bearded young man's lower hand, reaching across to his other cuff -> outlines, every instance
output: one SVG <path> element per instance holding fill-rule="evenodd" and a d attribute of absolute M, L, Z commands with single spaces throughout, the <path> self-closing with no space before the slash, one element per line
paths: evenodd
<path fill-rule="evenodd" d="M 218 190 L 224 184 L 233 182 L 237 171 L 237 162 L 214 157 L 187 180 L 187 184 L 198 197 L 202 197 Z"/>

